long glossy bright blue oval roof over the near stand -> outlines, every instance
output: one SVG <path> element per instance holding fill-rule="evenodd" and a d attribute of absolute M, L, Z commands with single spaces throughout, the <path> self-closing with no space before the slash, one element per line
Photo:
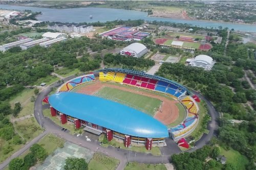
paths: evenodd
<path fill-rule="evenodd" d="M 61 113 L 116 132 L 145 137 L 168 137 L 165 125 L 141 111 L 92 95 L 60 92 L 49 97 L 50 105 Z"/>

